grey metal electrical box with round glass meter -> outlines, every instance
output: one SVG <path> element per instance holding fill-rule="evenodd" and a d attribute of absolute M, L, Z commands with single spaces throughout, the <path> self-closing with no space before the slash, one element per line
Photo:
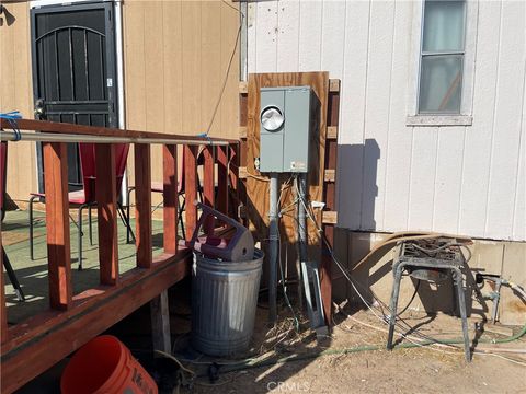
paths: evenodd
<path fill-rule="evenodd" d="M 260 171 L 306 173 L 317 97 L 310 86 L 261 88 Z"/>

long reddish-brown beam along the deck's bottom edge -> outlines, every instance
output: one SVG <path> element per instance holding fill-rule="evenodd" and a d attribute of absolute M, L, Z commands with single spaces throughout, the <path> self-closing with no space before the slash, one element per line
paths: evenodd
<path fill-rule="evenodd" d="M 155 258 L 152 269 L 133 269 L 117 286 L 76 296 L 80 305 L 48 313 L 48 320 L 30 318 L 13 327 L 1 362 L 1 392 L 12 393 L 90 339 L 190 275 L 187 250 Z M 73 338 L 66 340 L 67 338 Z M 31 360 L 31 362 L 27 362 Z"/>

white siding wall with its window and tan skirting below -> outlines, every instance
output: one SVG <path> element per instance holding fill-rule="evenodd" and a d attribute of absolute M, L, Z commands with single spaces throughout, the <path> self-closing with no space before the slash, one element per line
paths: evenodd
<path fill-rule="evenodd" d="M 247 14 L 249 72 L 341 79 L 340 258 L 352 268 L 384 232 L 465 234 L 479 239 L 471 268 L 526 285 L 524 1 L 265 1 Z M 366 282 L 388 299 L 377 268 Z M 344 279 L 334 291 L 348 296 Z M 521 323 L 524 306 L 510 309 L 501 318 Z"/>

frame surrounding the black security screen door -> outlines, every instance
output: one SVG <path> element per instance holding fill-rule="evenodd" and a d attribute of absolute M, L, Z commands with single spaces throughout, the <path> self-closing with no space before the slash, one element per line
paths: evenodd
<path fill-rule="evenodd" d="M 31 25 L 31 65 L 32 65 L 32 79 L 33 79 L 33 104 L 36 103 L 38 99 L 38 83 L 37 81 L 37 49 L 36 49 L 36 16 L 38 14 L 45 13 L 60 13 L 68 11 L 88 11 L 88 10 L 104 10 L 104 28 L 105 28 L 105 66 L 106 66 L 106 89 L 107 89 L 107 101 L 112 104 L 112 109 L 108 114 L 108 126 L 118 127 L 119 126 L 119 113 L 124 108 L 119 108 L 118 92 L 119 86 L 117 84 L 118 80 L 122 80 L 122 76 L 118 76 L 117 72 L 117 54 L 122 56 L 122 50 L 117 50 L 117 43 L 115 40 L 115 8 L 114 2 L 108 0 L 102 1 L 84 1 L 84 0 L 72 0 L 69 2 L 56 1 L 56 0 L 42 0 L 42 1 L 32 1 L 30 4 L 30 25 Z M 123 61 L 123 59 L 119 59 Z M 42 154 L 42 143 L 36 143 L 36 176 L 37 176 L 37 188 L 38 193 L 44 193 L 44 176 L 41 169 L 43 167 L 43 154 Z"/>

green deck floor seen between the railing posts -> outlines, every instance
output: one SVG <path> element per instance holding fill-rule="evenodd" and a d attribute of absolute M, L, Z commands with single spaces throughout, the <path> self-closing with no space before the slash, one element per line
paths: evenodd
<path fill-rule="evenodd" d="M 85 222 L 85 223 L 84 223 Z M 99 247 L 98 223 L 93 220 L 93 245 L 88 236 L 88 218 L 84 218 L 82 237 L 83 269 L 78 270 L 77 239 L 78 230 L 75 223 L 70 224 L 71 236 L 71 277 L 73 296 L 99 286 Z M 25 296 L 25 301 L 20 302 L 14 293 L 9 277 L 4 275 L 5 299 L 8 306 L 8 323 L 18 324 L 49 308 L 48 277 L 47 277 L 47 244 L 45 213 L 35 212 L 34 256 L 30 258 L 28 219 L 23 210 L 9 211 L 2 223 L 2 244 L 11 260 L 16 277 Z M 135 220 L 132 219 L 135 229 Z M 136 267 L 135 243 L 126 243 L 126 228 L 118 223 L 118 270 L 121 276 Z M 153 257 L 162 253 L 163 245 L 162 221 L 152 220 Z"/>

